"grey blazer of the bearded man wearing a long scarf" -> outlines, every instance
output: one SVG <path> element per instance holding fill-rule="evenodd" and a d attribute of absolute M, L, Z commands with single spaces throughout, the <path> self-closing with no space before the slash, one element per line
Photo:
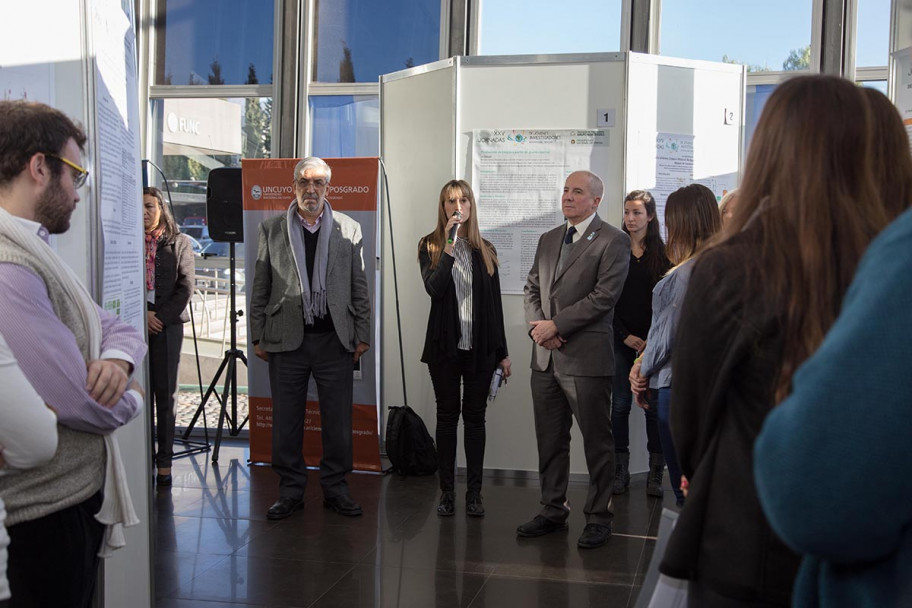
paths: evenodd
<path fill-rule="evenodd" d="M 295 269 L 288 220 L 282 214 L 260 223 L 253 290 L 250 294 L 251 341 L 266 352 L 297 349 L 304 340 L 301 283 Z M 322 226 L 320 230 L 325 230 Z M 370 296 L 361 226 L 333 211 L 326 268 L 329 313 L 339 341 L 354 351 L 359 342 L 370 343 Z"/>

